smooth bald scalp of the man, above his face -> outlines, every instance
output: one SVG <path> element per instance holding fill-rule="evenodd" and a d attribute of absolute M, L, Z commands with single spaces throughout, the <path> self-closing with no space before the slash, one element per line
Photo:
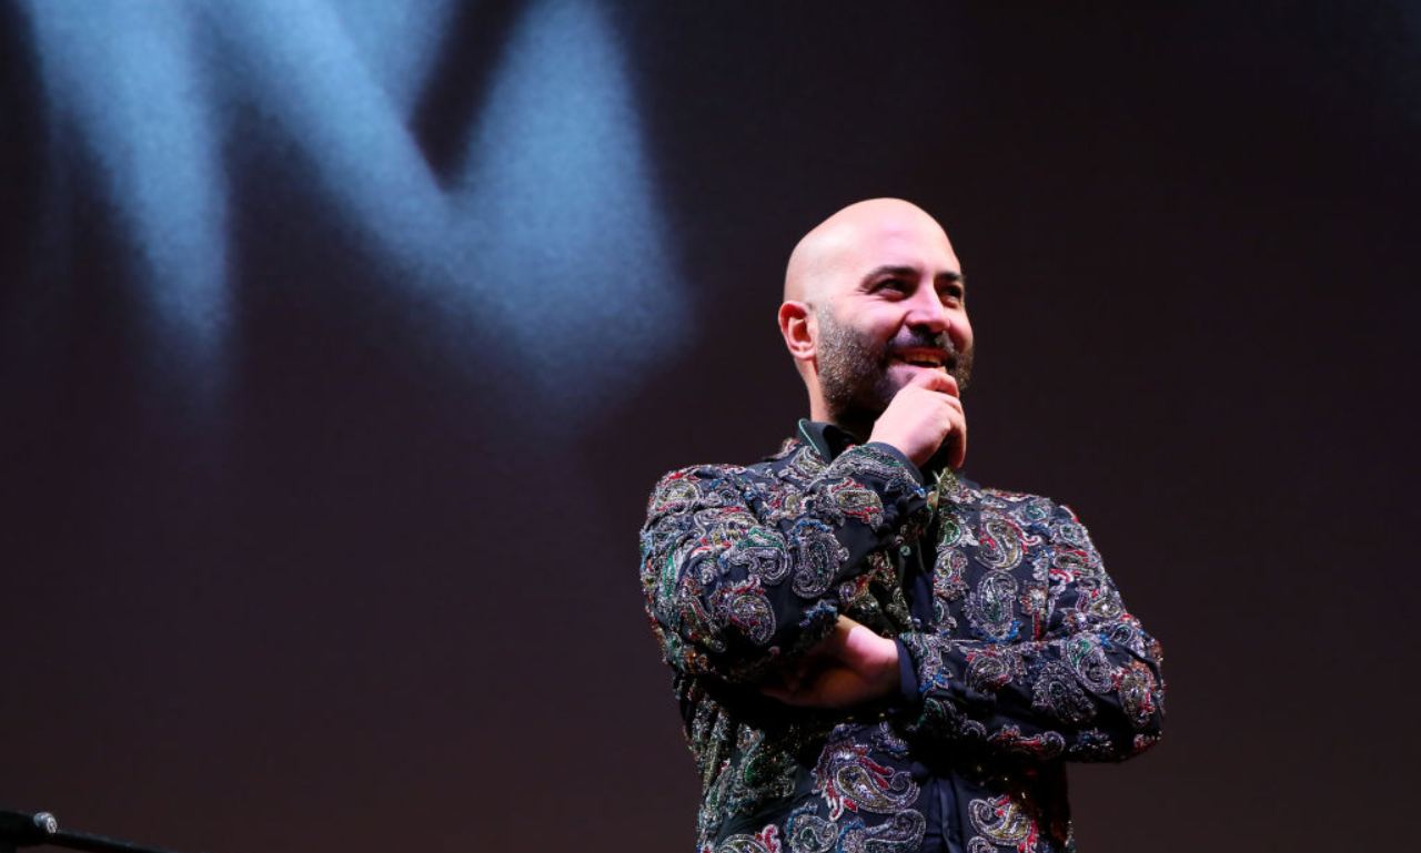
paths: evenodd
<path fill-rule="evenodd" d="M 799 241 L 784 270 L 784 301 L 824 304 L 827 287 L 861 261 L 865 251 L 892 238 L 941 243 L 948 236 L 925 210 L 902 199 L 868 199 L 830 216 Z"/>

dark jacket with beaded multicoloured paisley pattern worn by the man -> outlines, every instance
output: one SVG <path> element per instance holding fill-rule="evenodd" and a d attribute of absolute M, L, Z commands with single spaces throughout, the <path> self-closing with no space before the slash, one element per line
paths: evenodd
<path fill-rule="evenodd" d="M 902 585 L 919 542 L 929 620 Z M 951 473 L 924 488 L 892 447 L 828 461 L 794 439 L 755 466 L 666 474 L 641 552 L 702 778 L 702 853 L 918 850 L 929 778 L 952 786 L 968 853 L 1070 850 L 1063 761 L 1158 739 L 1160 646 L 1047 498 Z M 905 695 L 804 711 L 756 690 L 840 613 L 898 640 Z"/>

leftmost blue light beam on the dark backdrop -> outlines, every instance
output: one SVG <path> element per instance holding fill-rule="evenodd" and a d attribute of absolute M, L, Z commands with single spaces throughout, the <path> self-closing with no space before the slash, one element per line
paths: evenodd
<path fill-rule="evenodd" d="M 70 162 L 97 172 L 135 250 L 129 274 L 159 349 L 188 366 L 195 390 L 220 387 L 227 193 L 199 23 L 186 7 L 148 3 L 44 0 L 27 11 L 50 105 L 50 180 L 71 180 L 58 163 L 80 148 Z M 64 230 L 65 216 L 50 206 L 40 224 Z"/>

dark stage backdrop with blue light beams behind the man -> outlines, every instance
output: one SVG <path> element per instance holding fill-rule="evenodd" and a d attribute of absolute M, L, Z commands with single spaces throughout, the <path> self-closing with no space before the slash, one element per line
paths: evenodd
<path fill-rule="evenodd" d="M 895 194 L 972 282 L 969 473 L 1070 502 L 1165 643 L 1164 742 L 1071 771 L 1081 849 L 1414 835 L 1415 4 L 138 6 L 0 14 L 0 805 L 689 849 L 645 495 L 789 434 L 784 258 Z M 114 98 L 85 45 L 158 71 Z M 145 149 L 144 87 L 196 136 Z"/>

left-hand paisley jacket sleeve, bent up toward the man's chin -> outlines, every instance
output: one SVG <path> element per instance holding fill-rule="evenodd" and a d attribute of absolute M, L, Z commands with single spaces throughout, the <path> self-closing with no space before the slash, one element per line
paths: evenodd
<path fill-rule="evenodd" d="M 750 683 L 809 649 L 833 629 L 850 582 L 874 571 L 868 556 L 926 514 L 917 471 L 882 446 L 803 477 L 793 468 L 692 467 L 657 484 L 641 580 L 676 670 Z"/>

